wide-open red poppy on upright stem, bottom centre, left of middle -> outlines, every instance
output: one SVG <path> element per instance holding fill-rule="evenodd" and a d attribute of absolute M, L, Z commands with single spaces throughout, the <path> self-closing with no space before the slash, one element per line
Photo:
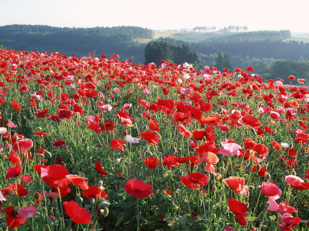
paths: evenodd
<path fill-rule="evenodd" d="M 155 191 L 151 190 L 152 186 L 150 183 L 145 184 L 138 179 L 130 179 L 125 183 L 125 191 L 136 198 L 146 198 Z"/>

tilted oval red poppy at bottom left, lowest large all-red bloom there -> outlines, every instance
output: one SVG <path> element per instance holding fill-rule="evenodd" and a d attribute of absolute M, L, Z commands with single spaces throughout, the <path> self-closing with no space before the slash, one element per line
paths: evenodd
<path fill-rule="evenodd" d="M 75 201 L 63 202 L 65 213 L 78 224 L 90 224 L 91 215 L 86 210 L 81 208 Z"/>

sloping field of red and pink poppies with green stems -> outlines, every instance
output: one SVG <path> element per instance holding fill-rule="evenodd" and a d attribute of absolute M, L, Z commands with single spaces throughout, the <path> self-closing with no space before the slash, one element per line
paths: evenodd
<path fill-rule="evenodd" d="M 0 230 L 309 230 L 303 79 L 119 60 L 0 50 Z"/>

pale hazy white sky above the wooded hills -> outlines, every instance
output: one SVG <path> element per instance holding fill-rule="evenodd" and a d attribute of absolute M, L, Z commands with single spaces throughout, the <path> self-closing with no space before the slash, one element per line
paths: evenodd
<path fill-rule="evenodd" d="M 309 31 L 308 0 L 1 0 L 0 26 L 248 26 L 249 30 Z"/>

